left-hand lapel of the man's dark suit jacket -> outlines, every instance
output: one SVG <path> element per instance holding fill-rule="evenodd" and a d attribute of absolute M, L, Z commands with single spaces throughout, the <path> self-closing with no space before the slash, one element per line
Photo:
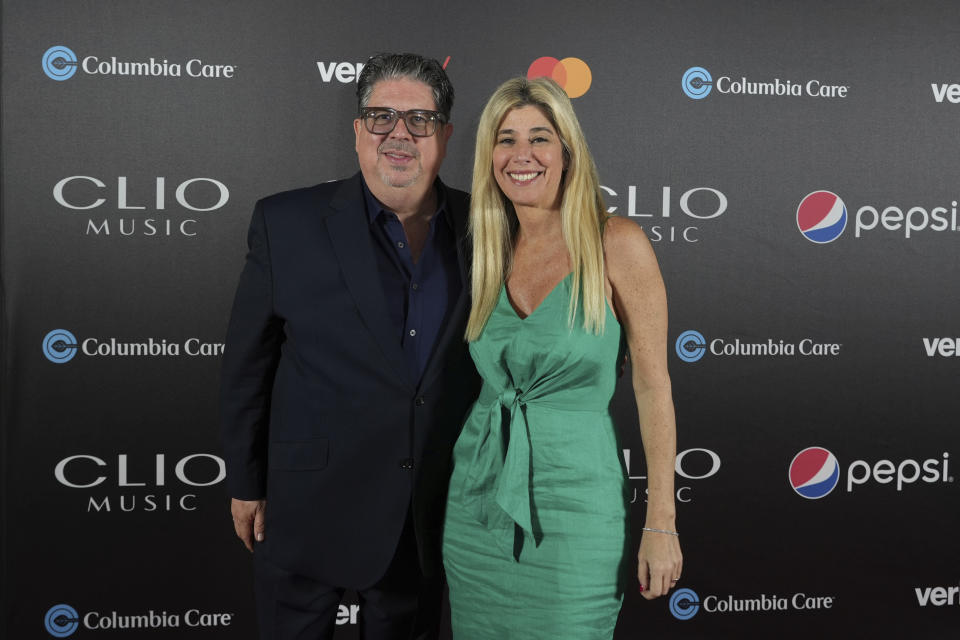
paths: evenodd
<path fill-rule="evenodd" d="M 403 359 L 399 338 L 387 320 L 365 207 L 360 174 L 357 173 L 345 180 L 330 200 L 327 232 L 364 325 L 377 341 L 384 361 L 394 370 L 397 379 L 403 380 L 412 390 L 414 384 Z"/>

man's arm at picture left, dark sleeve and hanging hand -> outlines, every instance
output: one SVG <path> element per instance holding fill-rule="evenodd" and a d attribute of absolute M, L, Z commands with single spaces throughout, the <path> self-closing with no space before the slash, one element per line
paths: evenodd
<path fill-rule="evenodd" d="M 263 539 L 270 394 L 283 325 L 273 313 L 273 273 L 262 202 L 254 208 L 247 259 L 227 329 L 220 383 L 221 441 L 237 535 Z"/>

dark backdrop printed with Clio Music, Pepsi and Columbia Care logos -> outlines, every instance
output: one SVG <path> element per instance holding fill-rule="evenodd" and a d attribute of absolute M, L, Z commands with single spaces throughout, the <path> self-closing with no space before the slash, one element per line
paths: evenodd
<path fill-rule="evenodd" d="M 255 637 L 227 316 L 255 200 L 356 170 L 380 51 L 445 63 L 465 189 L 493 89 L 557 79 L 654 243 L 685 570 L 657 601 L 631 585 L 616 637 L 956 637 L 954 2 L 2 8 L 3 637 Z"/>

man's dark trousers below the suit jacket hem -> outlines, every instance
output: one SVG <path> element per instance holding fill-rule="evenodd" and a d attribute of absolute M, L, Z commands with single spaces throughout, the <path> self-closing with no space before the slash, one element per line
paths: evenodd
<path fill-rule="evenodd" d="M 411 517 L 384 576 L 357 592 L 361 640 L 434 640 L 440 626 L 440 578 L 424 579 Z M 270 532 L 267 532 L 270 535 Z M 261 640 L 333 638 L 346 589 L 291 573 L 254 554 Z"/>

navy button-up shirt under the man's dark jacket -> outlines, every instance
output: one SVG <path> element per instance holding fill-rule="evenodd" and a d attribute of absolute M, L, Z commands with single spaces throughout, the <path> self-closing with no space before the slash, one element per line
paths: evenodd
<path fill-rule="evenodd" d="M 400 340 L 410 373 L 418 381 L 462 286 L 456 233 L 446 210 L 443 189 L 434 188 L 437 212 L 430 218 L 427 242 L 414 264 L 397 214 L 385 209 L 363 183 L 387 316 Z"/>

